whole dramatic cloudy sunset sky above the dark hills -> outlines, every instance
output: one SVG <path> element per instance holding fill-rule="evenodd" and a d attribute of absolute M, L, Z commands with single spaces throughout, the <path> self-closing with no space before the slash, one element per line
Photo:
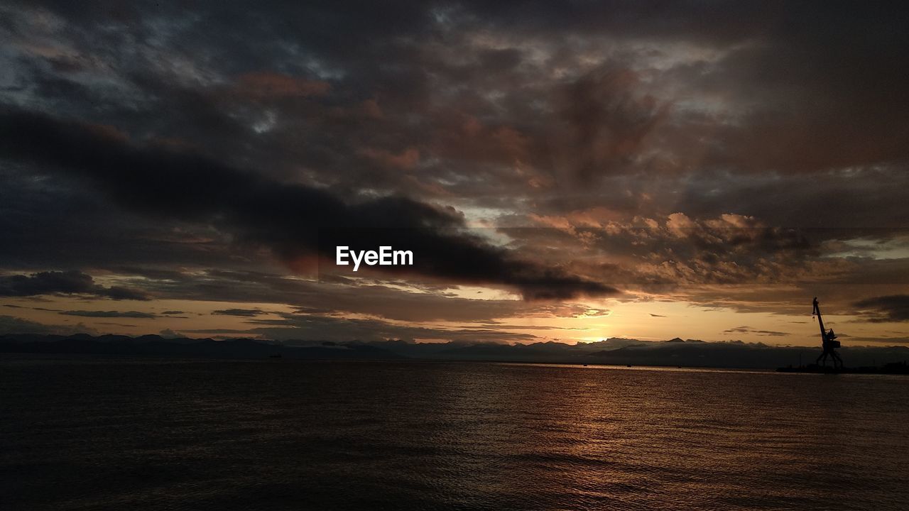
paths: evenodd
<path fill-rule="evenodd" d="M 0 331 L 907 343 L 907 20 L 797 4 L 0 2 Z"/>

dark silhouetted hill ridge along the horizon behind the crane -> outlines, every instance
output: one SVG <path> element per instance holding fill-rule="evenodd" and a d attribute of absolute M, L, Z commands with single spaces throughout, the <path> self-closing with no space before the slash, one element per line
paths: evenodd
<path fill-rule="evenodd" d="M 372 342 L 265 341 L 249 338 L 215 340 L 162 336 L 0 336 L 0 352 L 107 356 L 185 356 L 211 358 L 460 360 L 774 368 L 814 362 L 820 347 L 768 346 L 742 341 L 705 342 L 674 337 L 667 341 L 610 338 L 574 345 L 554 341 L 528 345 L 491 342 L 414 343 L 398 339 Z M 848 366 L 881 366 L 909 360 L 906 346 L 844 346 Z"/>

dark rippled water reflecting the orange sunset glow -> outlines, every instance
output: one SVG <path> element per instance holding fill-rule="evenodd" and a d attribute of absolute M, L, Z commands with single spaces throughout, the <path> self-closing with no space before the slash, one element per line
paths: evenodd
<path fill-rule="evenodd" d="M 0 358 L 0 509 L 909 509 L 909 379 Z"/>

